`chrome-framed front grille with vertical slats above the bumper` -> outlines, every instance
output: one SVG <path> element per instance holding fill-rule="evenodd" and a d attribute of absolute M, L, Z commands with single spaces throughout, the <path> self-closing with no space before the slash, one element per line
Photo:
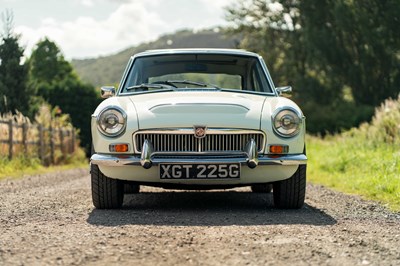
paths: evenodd
<path fill-rule="evenodd" d="M 257 130 L 208 128 L 204 138 L 196 138 L 193 128 L 143 130 L 133 135 L 135 153 L 141 153 L 146 139 L 153 144 L 154 153 L 162 154 L 242 153 L 250 139 L 262 153 L 266 142 L 265 134 Z"/>

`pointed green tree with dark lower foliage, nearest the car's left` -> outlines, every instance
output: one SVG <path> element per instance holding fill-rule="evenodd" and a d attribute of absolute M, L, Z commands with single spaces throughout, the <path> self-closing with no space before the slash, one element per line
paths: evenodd
<path fill-rule="evenodd" d="M 37 43 L 28 62 L 30 84 L 45 101 L 70 115 L 74 127 L 80 129 L 82 146 L 89 151 L 91 114 L 100 101 L 94 87 L 78 78 L 60 49 L 48 38 Z"/>

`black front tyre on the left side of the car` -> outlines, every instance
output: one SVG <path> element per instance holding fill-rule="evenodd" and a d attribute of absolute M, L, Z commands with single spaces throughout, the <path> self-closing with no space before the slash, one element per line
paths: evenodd
<path fill-rule="evenodd" d="M 105 176 L 95 164 L 90 166 L 92 199 L 97 209 L 121 208 L 124 200 L 124 183 Z"/>

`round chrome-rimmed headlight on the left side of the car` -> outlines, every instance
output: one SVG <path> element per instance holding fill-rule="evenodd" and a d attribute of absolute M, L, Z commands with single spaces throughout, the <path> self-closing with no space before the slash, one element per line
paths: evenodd
<path fill-rule="evenodd" d="M 97 127 L 108 137 L 120 135 L 126 127 L 126 113 L 117 106 L 111 106 L 100 112 Z"/>

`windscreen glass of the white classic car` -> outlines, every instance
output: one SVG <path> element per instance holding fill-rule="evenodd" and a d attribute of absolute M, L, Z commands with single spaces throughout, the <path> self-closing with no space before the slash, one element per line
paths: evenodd
<path fill-rule="evenodd" d="M 132 92 L 132 88 L 143 84 L 146 84 L 148 90 L 168 89 L 168 86 L 148 84 L 168 84 L 174 88 L 209 87 L 272 92 L 258 58 L 221 54 L 138 57 L 132 64 L 122 92 Z"/>

